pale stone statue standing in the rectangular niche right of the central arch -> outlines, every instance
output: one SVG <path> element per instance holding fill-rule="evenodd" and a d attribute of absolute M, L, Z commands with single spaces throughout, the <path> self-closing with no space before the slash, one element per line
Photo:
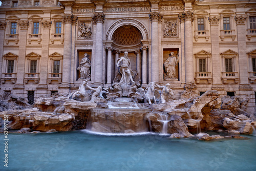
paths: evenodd
<path fill-rule="evenodd" d="M 177 79 L 176 65 L 179 63 L 179 55 L 174 56 L 174 52 L 170 52 L 169 57 L 164 62 L 166 72 L 165 80 Z"/>

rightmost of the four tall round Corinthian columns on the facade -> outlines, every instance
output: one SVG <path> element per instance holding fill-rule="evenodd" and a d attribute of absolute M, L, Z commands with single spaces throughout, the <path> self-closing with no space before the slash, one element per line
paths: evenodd
<path fill-rule="evenodd" d="M 180 19 L 184 20 L 185 27 L 185 80 L 186 82 L 194 81 L 193 70 L 193 34 L 192 34 L 192 22 L 194 20 L 193 11 L 184 11 L 179 14 Z"/>

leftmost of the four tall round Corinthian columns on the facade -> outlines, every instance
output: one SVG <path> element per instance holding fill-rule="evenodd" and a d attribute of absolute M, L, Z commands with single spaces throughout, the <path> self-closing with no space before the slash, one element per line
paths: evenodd
<path fill-rule="evenodd" d="M 65 42 L 64 42 L 64 53 L 63 53 L 62 86 L 63 84 L 70 83 L 72 25 L 75 23 L 76 20 L 77 20 L 77 16 L 74 16 L 73 14 L 63 15 L 63 23 L 65 24 Z"/>

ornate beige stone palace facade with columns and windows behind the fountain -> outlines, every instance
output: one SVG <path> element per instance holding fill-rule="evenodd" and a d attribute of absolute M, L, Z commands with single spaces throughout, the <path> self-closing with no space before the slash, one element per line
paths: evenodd
<path fill-rule="evenodd" d="M 90 85 L 111 86 L 128 52 L 143 87 L 156 81 L 180 92 L 195 81 L 198 94 L 247 95 L 254 111 L 256 1 L 1 1 L 1 92 L 74 92 L 84 54 Z"/>

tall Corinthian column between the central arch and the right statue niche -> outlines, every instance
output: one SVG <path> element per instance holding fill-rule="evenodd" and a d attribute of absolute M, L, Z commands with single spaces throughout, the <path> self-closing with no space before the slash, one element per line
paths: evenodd
<path fill-rule="evenodd" d="M 149 16 L 151 20 L 151 81 L 159 82 L 158 22 L 163 16 L 157 12 L 152 12 Z"/>

